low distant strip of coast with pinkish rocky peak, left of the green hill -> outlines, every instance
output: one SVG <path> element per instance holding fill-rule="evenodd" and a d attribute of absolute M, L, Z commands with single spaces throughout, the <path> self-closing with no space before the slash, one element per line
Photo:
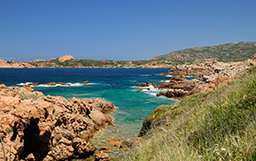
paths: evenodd
<path fill-rule="evenodd" d="M 0 68 L 172 68 L 168 61 L 111 61 L 74 59 L 71 55 L 34 62 L 14 62 L 0 60 Z"/>

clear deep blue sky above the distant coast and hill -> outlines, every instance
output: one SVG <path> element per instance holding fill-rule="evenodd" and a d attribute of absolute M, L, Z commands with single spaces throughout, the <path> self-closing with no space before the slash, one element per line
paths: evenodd
<path fill-rule="evenodd" d="M 0 59 L 150 60 L 256 41 L 255 0 L 0 0 Z"/>

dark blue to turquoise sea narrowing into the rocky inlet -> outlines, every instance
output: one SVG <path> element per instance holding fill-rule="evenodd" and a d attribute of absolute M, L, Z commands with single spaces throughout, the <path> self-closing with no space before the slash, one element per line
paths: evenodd
<path fill-rule="evenodd" d="M 34 90 L 44 95 L 73 97 L 79 99 L 102 98 L 113 101 L 116 110 L 111 116 L 114 127 L 101 131 L 101 136 L 120 139 L 134 139 L 138 136 L 143 118 L 149 116 L 154 109 L 162 104 L 171 105 L 177 100 L 156 97 L 160 90 L 136 87 L 146 81 L 160 85 L 170 76 L 160 75 L 170 69 L 0 69 L 0 83 L 6 86 L 22 86 L 26 82 L 59 82 L 70 86 L 49 87 L 42 85 Z M 88 80 L 90 83 L 81 85 Z M 143 89 L 143 91 L 138 91 Z M 117 129 L 117 133 L 113 130 Z"/>

